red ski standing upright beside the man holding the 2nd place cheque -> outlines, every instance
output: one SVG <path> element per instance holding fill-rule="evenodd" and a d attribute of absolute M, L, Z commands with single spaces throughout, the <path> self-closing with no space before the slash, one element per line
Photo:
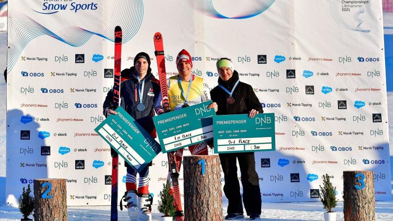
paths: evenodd
<path fill-rule="evenodd" d="M 121 28 L 114 28 L 114 80 L 113 80 L 113 106 L 119 106 L 120 98 L 120 71 L 121 71 Z M 111 221 L 117 221 L 117 176 L 119 155 L 111 148 L 112 155 L 112 195 L 111 195 Z"/>

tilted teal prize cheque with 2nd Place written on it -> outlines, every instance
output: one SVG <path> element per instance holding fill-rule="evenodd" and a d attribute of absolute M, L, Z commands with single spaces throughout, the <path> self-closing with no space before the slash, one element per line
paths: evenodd
<path fill-rule="evenodd" d="M 123 108 L 94 129 L 124 160 L 140 172 L 161 152 L 161 146 Z"/>

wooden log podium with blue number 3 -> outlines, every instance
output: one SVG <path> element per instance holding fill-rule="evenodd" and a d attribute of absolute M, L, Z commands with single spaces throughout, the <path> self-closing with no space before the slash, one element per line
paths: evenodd
<path fill-rule="evenodd" d="M 374 174 L 372 171 L 343 171 L 344 220 L 375 220 Z"/>

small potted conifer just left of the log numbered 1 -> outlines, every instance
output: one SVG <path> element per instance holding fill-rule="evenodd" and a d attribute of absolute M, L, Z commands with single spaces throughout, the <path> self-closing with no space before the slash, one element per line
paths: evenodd
<path fill-rule="evenodd" d="M 161 221 L 172 221 L 172 216 L 175 211 L 173 206 L 173 196 L 169 193 L 169 182 L 163 184 L 163 190 L 160 192 L 160 199 L 158 201 L 158 211 L 164 214 L 161 217 Z"/>

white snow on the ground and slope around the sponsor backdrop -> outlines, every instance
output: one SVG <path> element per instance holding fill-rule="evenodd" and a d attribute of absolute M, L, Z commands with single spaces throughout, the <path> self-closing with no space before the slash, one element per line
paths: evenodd
<path fill-rule="evenodd" d="M 0 33 L 0 73 L 6 67 L 6 41 L 7 35 Z M 6 100 L 6 85 L 0 76 L 0 100 Z M 390 143 L 393 143 L 393 92 L 388 92 L 389 113 L 389 136 Z M 14 208 L 5 203 L 5 127 L 6 127 L 6 107 L 5 102 L 0 105 L 0 221 L 19 221 L 22 218 L 18 208 Z M 391 162 L 393 161 L 393 148 L 390 149 Z M 393 172 L 393 165 L 391 170 Z M 392 176 L 393 177 L 393 176 Z M 393 186 L 393 182 L 392 182 Z M 223 213 L 226 215 L 227 204 L 223 205 Z M 69 221 L 108 221 L 110 219 L 110 206 L 83 206 L 68 207 Z M 153 221 L 159 221 L 161 214 L 158 213 L 157 205 L 153 205 Z M 342 213 L 343 203 L 338 202 L 335 209 L 337 211 L 337 221 L 344 220 Z M 320 202 L 296 202 L 296 203 L 264 203 L 262 202 L 261 221 L 309 221 L 323 220 L 324 209 Z M 393 200 L 376 202 L 376 220 L 393 221 Z M 32 218 L 32 216 L 30 216 Z M 125 210 L 119 210 L 119 221 L 129 220 Z M 248 220 L 248 219 L 244 219 Z M 240 220 L 239 220 L 240 221 Z"/>

